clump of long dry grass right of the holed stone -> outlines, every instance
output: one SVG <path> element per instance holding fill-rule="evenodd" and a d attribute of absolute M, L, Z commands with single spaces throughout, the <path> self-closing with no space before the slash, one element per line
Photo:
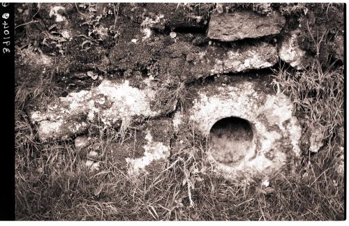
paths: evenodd
<path fill-rule="evenodd" d="M 332 151 L 337 129 L 344 125 L 343 66 L 334 68 L 332 63 L 324 68 L 317 59 L 302 72 L 283 65 L 274 74 L 276 91 L 290 96 L 307 126 L 315 125 L 327 142 L 327 151 Z"/>

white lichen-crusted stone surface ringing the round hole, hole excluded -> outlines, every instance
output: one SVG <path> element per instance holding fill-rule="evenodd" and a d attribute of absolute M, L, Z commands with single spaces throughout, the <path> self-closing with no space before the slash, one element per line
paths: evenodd
<path fill-rule="evenodd" d="M 239 82 L 234 86 L 205 87 L 188 113 L 189 120 L 207 136 L 214 123 L 223 118 L 235 116 L 251 123 L 253 147 L 238 163 L 219 163 L 208 153 L 207 159 L 213 163 L 214 170 L 227 178 L 269 174 L 301 152 L 302 129 L 292 115 L 292 103 L 281 93 L 260 91 L 257 85 Z"/>

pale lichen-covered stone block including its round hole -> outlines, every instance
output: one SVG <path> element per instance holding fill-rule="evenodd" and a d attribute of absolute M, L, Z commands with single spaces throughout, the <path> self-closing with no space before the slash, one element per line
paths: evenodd
<path fill-rule="evenodd" d="M 216 172 L 227 178 L 249 178 L 270 174 L 300 155 L 302 129 L 292 112 L 292 102 L 283 94 L 266 93 L 257 82 L 241 81 L 200 89 L 186 114 L 210 137 L 207 159 Z M 181 117 L 175 118 L 176 128 Z"/>

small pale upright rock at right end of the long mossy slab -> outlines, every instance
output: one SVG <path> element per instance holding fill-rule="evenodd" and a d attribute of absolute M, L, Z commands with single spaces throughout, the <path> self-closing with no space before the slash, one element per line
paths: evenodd
<path fill-rule="evenodd" d="M 279 48 L 279 57 L 298 70 L 304 69 L 311 63 L 309 55 L 299 46 L 298 36 L 301 31 L 296 29 L 285 34 Z"/>

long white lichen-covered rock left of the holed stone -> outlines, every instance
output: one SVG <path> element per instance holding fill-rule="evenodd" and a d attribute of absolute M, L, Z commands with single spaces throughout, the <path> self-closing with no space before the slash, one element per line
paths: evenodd
<path fill-rule="evenodd" d="M 151 110 L 154 90 L 138 89 L 124 83 L 104 80 L 90 91 L 69 93 L 30 113 L 33 123 L 38 124 L 41 140 L 49 138 L 66 140 L 83 133 L 89 123 L 127 128 L 133 118 L 158 116 Z"/>

